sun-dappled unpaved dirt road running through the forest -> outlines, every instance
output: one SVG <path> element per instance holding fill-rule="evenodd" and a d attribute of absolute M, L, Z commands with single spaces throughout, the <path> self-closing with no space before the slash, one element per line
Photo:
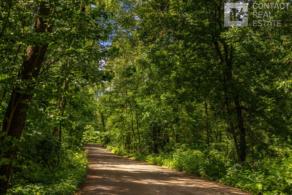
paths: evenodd
<path fill-rule="evenodd" d="M 121 157 L 102 144 L 87 144 L 86 149 L 88 175 L 75 195 L 248 195 L 187 173 Z"/>

